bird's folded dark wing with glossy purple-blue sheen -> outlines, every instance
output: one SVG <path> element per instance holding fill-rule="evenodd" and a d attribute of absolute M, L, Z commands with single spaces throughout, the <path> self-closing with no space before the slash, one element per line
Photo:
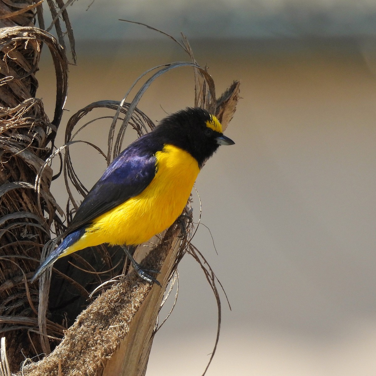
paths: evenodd
<path fill-rule="evenodd" d="M 85 197 L 67 229 L 70 233 L 141 193 L 156 173 L 156 158 L 135 145 L 124 150 L 108 166 Z"/>

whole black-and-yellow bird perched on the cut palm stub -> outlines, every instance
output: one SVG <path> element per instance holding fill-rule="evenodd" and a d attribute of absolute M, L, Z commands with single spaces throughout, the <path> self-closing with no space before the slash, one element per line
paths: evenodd
<path fill-rule="evenodd" d="M 182 213 L 206 159 L 234 142 L 201 108 L 170 115 L 130 144 L 82 201 L 62 243 L 36 270 L 34 282 L 58 258 L 102 243 L 133 247 L 171 226 Z M 139 276 L 157 282 L 127 256 Z M 159 283 L 158 283 L 159 284 Z"/>

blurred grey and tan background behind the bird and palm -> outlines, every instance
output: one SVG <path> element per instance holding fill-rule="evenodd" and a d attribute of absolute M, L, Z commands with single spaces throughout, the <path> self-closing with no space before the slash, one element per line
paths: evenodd
<path fill-rule="evenodd" d="M 145 70 L 188 59 L 170 39 L 119 18 L 185 33 L 217 95 L 241 80 L 226 130 L 236 144 L 221 147 L 196 182 L 211 234 L 200 226 L 193 243 L 232 307 L 222 294 L 207 375 L 375 375 L 376 2 L 82 0 L 68 13 L 77 65 L 57 146 L 80 108 L 121 100 Z M 37 96 L 52 118 L 47 55 Z M 193 101 L 193 72 L 182 68 L 156 80 L 139 108 L 158 121 Z M 111 120 L 100 124 L 77 139 L 105 149 Z M 90 187 L 105 162 L 83 144 L 71 152 Z M 52 188 L 64 207 L 64 181 Z M 217 306 L 205 277 L 188 255 L 179 274 L 147 375 L 200 375 L 214 346 Z"/>

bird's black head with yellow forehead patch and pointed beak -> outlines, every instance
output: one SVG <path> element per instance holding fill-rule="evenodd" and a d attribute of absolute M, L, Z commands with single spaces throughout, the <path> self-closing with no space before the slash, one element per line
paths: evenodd
<path fill-rule="evenodd" d="M 186 150 L 201 168 L 220 145 L 235 144 L 222 133 L 218 119 L 202 108 L 186 108 L 164 118 L 156 128 L 167 137 L 167 143 Z"/>

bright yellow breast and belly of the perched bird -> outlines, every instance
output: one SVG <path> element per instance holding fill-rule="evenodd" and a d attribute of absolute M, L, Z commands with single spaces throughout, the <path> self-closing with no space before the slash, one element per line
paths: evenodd
<path fill-rule="evenodd" d="M 165 145 L 156 153 L 157 173 L 138 196 L 97 217 L 85 234 L 61 255 L 97 246 L 136 245 L 165 230 L 181 214 L 200 168 L 189 153 Z"/>

